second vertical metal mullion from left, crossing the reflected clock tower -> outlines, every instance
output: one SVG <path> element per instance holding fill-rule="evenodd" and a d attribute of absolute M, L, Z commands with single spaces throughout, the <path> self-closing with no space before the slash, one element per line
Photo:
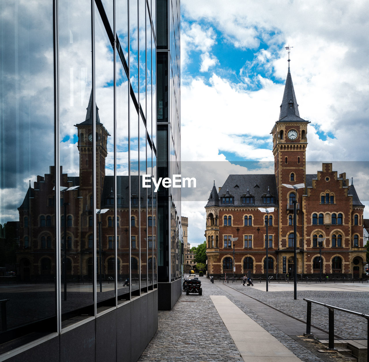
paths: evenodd
<path fill-rule="evenodd" d="M 96 93 L 95 93 L 95 9 L 94 0 L 91 0 L 91 62 L 92 62 L 92 201 L 93 201 L 93 297 L 94 297 L 94 316 L 97 315 L 97 293 L 96 293 Z"/>

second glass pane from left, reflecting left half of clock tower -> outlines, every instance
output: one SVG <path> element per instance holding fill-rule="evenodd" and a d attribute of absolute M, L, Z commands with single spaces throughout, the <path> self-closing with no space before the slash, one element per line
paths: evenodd
<path fill-rule="evenodd" d="M 90 8 L 87 0 L 59 1 L 61 186 L 79 186 L 60 192 L 63 223 L 65 215 L 73 219 L 73 227 L 61 225 L 61 236 L 72 237 L 74 246 L 68 250 L 62 243 L 62 327 L 94 314 Z"/>

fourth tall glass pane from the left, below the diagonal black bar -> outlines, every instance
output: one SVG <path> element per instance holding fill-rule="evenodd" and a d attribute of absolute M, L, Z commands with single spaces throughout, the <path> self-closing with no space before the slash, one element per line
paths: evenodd
<path fill-rule="evenodd" d="M 122 4 L 119 2 L 119 4 Z M 126 2 L 127 6 L 127 2 Z M 131 222 L 128 176 L 128 102 L 129 84 L 120 57 L 117 54 L 117 249 L 120 268 L 118 271 L 118 303 L 130 299 L 130 233 Z"/>

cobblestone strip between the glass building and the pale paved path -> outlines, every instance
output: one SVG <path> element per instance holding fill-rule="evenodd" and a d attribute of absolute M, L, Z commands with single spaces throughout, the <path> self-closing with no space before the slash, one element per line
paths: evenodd
<path fill-rule="evenodd" d="M 182 292 L 172 310 L 159 311 L 158 331 L 138 361 L 243 361 L 209 297 L 224 291 L 201 282 L 202 296 Z"/>

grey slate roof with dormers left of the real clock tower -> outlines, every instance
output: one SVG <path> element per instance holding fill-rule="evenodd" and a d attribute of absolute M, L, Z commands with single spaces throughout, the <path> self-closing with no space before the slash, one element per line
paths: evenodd
<path fill-rule="evenodd" d="M 215 186 L 213 186 L 211 193 L 213 193 L 214 187 Z M 266 204 L 262 203 L 262 197 L 266 196 L 268 193 L 268 187 L 270 194 L 275 197 L 275 203 L 268 204 L 268 206 L 277 207 L 278 195 L 274 174 L 229 175 L 227 180 L 224 182 L 224 185 L 218 192 L 218 196 L 220 198 L 218 199 L 218 202 L 219 205 L 221 205 L 221 198 L 225 196 L 228 191 L 228 194 L 233 195 L 234 197 L 234 203 L 230 204 L 230 206 L 245 206 L 245 204 L 242 204 L 241 202 L 241 197 L 246 196 L 248 188 L 249 194 L 254 196 L 254 204 L 247 205 L 254 207 L 265 207 Z M 213 203 L 209 204 L 209 202 L 207 203 L 206 207 L 214 205 Z"/>

